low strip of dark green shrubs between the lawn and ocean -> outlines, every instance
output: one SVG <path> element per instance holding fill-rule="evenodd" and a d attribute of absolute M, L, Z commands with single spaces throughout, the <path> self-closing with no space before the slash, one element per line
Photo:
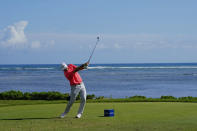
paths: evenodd
<path fill-rule="evenodd" d="M 68 93 L 60 92 L 21 92 L 21 91 L 6 91 L 0 92 L 0 100 L 69 100 Z M 79 95 L 76 100 L 79 100 Z M 174 97 L 161 96 L 160 98 L 147 98 L 145 96 L 131 96 L 127 98 L 105 98 L 104 96 L 96 97 L 94 94 L 87 95 L 87 99 L 92 102 L 197 102 L 197 97 Z"/>

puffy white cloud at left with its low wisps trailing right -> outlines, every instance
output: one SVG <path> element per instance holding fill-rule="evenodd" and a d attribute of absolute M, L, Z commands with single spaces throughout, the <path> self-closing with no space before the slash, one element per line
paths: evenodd
<path fill-rule="evenodd" d="M 19 21 L 0 30 L 0 46 L 28 50 L 42 47 L 50 48 L 55 44 L 55 41 L 50 39 L 50 37 L 47 37 L 46 39 L 34 37 L 32 39 L 31 35 L 25 34 L 25 28 L 27 25 L 28 21 Z"/>

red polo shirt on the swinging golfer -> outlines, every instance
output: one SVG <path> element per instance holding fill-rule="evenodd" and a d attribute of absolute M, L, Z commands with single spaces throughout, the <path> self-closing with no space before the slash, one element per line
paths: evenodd
<path fill-rule="evenodd" d="M 81 76 L 78 72 L 74 72 L 74 70 L 77 68 L 76 65 L 69 64 L 68 70 L 64 71 L 64 76 L 69 80 L 70 85 L 77 85 L 82 82 Z"/>

